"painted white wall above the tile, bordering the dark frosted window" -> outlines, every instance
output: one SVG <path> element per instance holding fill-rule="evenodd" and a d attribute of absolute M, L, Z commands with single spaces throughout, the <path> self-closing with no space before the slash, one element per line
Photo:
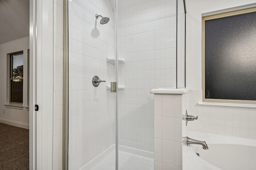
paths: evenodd
<path fill-rule="evenodd" d="M 202 89 L 202 14 L 256 3 L 256 0 L 186 0 L 187 14 L 187 41 L 190 89 Z"/>

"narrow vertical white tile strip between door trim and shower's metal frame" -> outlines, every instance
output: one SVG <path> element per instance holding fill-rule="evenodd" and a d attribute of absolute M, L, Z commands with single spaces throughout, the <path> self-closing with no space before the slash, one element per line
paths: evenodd
<path fill-rule="evenodd" d="M 54 0 L 53 169 L 62 170 L 63 0 Z"/>

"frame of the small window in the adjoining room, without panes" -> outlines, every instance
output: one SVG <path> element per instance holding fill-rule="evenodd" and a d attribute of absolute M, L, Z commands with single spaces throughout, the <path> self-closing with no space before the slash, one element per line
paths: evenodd
<path fill-rule="evenodd" d="M 22 102 L 12 102 L 12 87 L 11 87 L 11 81 L 12 80 L 21 80 L 22 79 L 22 83 L 23 83 L 23 86 L 24 86 L 24 81 L 23 81 L 23 78 L 24 78 L 24 67 L 23 67 L 23 76 L 22 78 L 12 78 L 12 74 L 13 74 L 13 56 L 15 55 L 24 55 L 23 51 L 18 51 L 18 52 L 15 52 L 15 53 L 10 53 L 8 54 L 9 55 L 9 62 L 10 62 L 10 66 L 9 66 L 9 104 L 11 105 L 23 105 L 23 95 L 24 95 L 24 89 L 22 89 Z M 24 66 L 24 56 L 23 56 L 23 66 Z M 23 88 L 22 86 L 22 88 Z"/>

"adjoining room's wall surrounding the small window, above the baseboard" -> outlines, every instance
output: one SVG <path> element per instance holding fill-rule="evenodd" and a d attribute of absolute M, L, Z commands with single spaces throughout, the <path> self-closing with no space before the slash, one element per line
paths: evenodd
<path fill-rule="evenodd" d="M 17 39 L 14 41 L 10 41 L 8 43 L 0 44 L 0 122 L 7 123 L 10 125 L 23 127 L 28 129 L 29 123 L 29 104 L 27 103 L 28 98 L 28 49 L 29 49 L 29 37 L 25 37 L 22 39 Z M 7 81 L 9 80 L 9 76 L 7 77 L 7 54 L 14 53 L 18 51 L 23 51 L 24 58 L 24 78 L 23 78 L 23 106 L 19 108 L 9 108 L 6 107 L 5 104 L 9 104 L 7 101 L 8 92 L 7 90 Z M 5 113 L 3 113 L 5 109 Z"/>

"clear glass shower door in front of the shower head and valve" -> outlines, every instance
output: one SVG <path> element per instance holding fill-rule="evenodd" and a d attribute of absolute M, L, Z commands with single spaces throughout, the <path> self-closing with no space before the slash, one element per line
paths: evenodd
<path fill-rule="evenodd" d="M 116 169 L 114 4 L 68 0 L 69 170 Z"/>

